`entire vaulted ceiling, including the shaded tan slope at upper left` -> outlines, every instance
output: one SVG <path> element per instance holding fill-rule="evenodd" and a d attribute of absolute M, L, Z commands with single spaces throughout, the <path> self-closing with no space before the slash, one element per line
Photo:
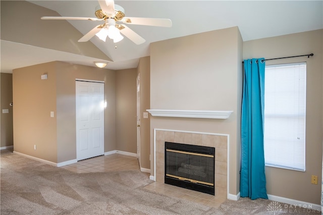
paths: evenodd
<path fill-rule="evenodd" d="M 238 26 L 244 41 L 323 28 L 323 1 L 115 1 L 127 17 L 167 18 L 172 27 L 127 25 L 146 41 L 118 43 L 96 36 L 77 40 L 101 24 L 40 20 L 41 16 L 95 17 L 91 1 L 1 1 L 1 72 L 50 61 L 106 68 L 136 68 L 151 42 Z M 27 10 L 28 9 L 28 10 Z M 198 41 L 196 41 L 198 42 Z M 255 56 L 256 57 L 256 56 Z"/>

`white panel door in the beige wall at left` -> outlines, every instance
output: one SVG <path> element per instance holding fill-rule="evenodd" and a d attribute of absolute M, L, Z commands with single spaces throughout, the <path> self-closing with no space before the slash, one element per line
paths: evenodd
<path fill-rule="evenodd" d="M 104 154 L 104 83 L 76 81 L 77 160 Z"/>

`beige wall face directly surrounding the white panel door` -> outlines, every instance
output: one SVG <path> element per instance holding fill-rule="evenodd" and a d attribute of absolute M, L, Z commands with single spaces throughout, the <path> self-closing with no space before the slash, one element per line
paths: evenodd
<path fill-rule="evenodd" d="M 116 72 L 56 62 L 58 163 L 76 159 L 75 79 L 104 81 L 104 152 L 116 149 Z"/>

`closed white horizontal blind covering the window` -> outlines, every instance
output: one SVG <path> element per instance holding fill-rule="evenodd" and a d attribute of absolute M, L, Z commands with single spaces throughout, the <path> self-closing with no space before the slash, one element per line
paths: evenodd
<path fill-rule="evenodd" d="M 306 63 L 265 67 L 265 165 L 305 171 Z"/>

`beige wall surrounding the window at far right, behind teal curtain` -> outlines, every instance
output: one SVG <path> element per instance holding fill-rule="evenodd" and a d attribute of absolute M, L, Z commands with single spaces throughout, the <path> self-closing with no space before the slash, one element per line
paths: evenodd
<path fill-rule="evenodd" d="M 243 58 L 280 58 L 314 53 L 313 57 L 266 61 L 266 65 L 306 62 L 306 171 L 266 167 L 267 193 L 320 204 L 321 186 L 311 184 L 311 175 L 321 181 L 322 164 L 322 30 L 246 41 Z"/>

